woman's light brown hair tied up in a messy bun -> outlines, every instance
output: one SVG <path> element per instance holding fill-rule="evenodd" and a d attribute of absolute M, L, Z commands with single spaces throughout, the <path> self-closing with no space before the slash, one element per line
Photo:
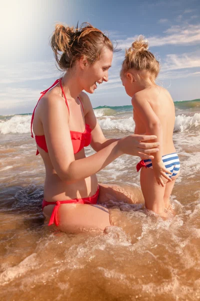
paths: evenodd
<path fill-rule="evenodd" d="M 61 70 L 72 68 L 75 61 L 85 56 L 89 64 L 101 57 L 102 50 L 113 52 L 111 41 L 89 23 L 82 23 L 78 28 L 56 24 L 50 39 L 55 60 Z"/>

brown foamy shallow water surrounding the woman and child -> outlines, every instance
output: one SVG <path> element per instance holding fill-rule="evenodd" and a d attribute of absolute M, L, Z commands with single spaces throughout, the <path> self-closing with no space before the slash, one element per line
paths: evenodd
<path fill-rule="evenodd" d="M 1 132 L 0 300 L 200 299 L 200 119 L 197 110 L 178 114 L 174 144 L 181 172 L 171 196 L 176 216 L 163 221 L 141 204 L 110 201 L 105 206 L 114 226 L 106 234 L 48 227 L 35 142 L 25 130 Z M 128 134 L 129 118 L 130 112 L 98 117 L 107 137 Z M 121 156 L 98 173 L 99 182 L 138 186 L 137 161 Z"/>

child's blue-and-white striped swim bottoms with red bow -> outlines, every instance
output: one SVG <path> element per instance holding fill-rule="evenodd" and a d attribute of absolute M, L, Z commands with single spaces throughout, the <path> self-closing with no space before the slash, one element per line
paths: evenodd
<path fill-rule="evenodd" d="M 168 169 L 172 173 L 172 175 L 167 174 L 167 176 L 169 176 L 169 178 L 177 175 L 177 173 L 180 169 L 180 161 L 179 161 L 178 155 L 176 153 L 162 156 L 162 161 L 164 163 L 165 168 Z M 145 159 L 145 160 L 143 160 L 143 162 L 146 167 L 152 168 L 152 163 L 151 163 L 150 159 Z"/>

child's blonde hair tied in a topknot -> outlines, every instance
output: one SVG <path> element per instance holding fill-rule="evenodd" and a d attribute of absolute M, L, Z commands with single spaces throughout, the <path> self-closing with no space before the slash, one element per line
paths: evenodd
<path fill-rule="evenodd" d="M 148 41 L 143 36 L 139 36 L 128 50 L 125 50 L 125 59 L 122 62 L 120 75 L 128 72 L 130 69 L 136 71 L 148 71 L 151 79 L 154 80 L 159 73 L 159 62 L 148 50 Z"/>

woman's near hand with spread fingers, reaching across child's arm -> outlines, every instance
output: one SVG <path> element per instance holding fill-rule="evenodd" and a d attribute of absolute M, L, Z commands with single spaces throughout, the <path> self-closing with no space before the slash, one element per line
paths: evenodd
<path fill-rule="evenodd" d="M 122 154 L 142 157 L 143 159 L 153 159 L 152 153 L 159 152 L 157 146 L 159 142 L 144 142 L 153 140 L 155 135 L 129 135 L 118 141 L 119 152 Z"/>

